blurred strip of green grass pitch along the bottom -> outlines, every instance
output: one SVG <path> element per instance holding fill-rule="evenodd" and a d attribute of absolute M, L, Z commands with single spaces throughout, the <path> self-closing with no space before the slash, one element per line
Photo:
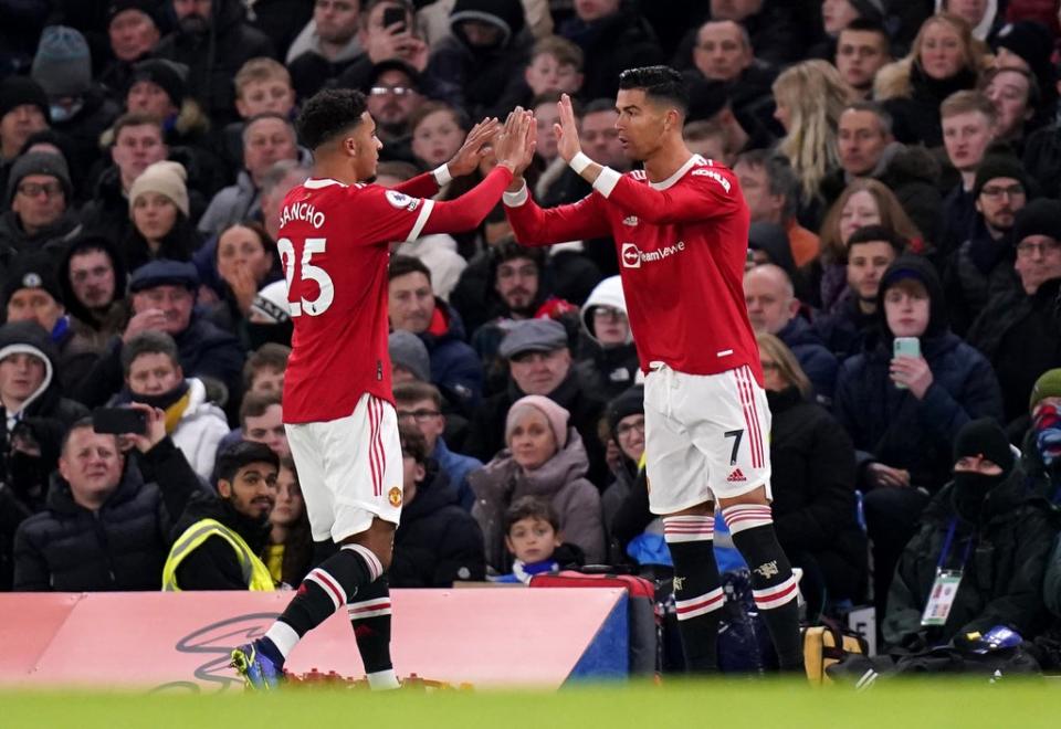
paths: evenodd
<path fill-rule="evenodd" d="M 915 679 L 864 694 L 764 682 L 582 685 L 555 693 L 390 694 L 297 689 L 272 695 L 0 691 L 0 727 L 198 729 L 911 729 L 1061 727 L 1061 682 Z"/>

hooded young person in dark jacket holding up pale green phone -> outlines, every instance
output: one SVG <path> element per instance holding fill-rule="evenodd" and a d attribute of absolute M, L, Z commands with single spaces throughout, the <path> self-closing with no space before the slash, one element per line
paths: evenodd
<path fill-rule="evenodd" d="M 1000 420 L 1002 402 L 990 364 L 950 331 L 927 260 L 904 255 L 889 266 L 878 316 L 879 336 L 840 368 L 833 405 L 857 451 L 883 610 L 921 510 L 949 479 L 955 436 L 970 420 Z M 893 357 L 896 336 L 916 337 L 921 356 Z"/>

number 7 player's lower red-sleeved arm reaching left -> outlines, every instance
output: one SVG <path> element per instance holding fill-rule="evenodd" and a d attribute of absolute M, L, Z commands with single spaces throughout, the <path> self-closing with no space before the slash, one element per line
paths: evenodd
<path fill-rule="evenodd" d="M 505 214 L 522 245 L 551 245 L 609 234 L 600 194 L 592 192 L 576 203 L 542 209 L 530 198 L 526 182 L 504 194 Z"/>

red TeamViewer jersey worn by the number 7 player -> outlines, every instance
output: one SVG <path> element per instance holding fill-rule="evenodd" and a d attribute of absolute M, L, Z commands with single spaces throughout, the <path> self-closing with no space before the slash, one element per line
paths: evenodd
<path fill-rule="evenodd" d="M 543 210 L 526 193 L 505 196 L 525 245 L 610 235 L 641 369 L 715 374 L 747 364 L 759 384 L 759 350 L 744 303 L 748 207 L 737 176 L 694 155 L 673 176 L 605 170 L 592 193 Z"/>

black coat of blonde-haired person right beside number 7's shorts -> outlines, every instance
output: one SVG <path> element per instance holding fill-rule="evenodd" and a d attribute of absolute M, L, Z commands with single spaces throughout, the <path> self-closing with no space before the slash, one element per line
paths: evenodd
<path fill-rule="evenodd" d="M 854 446 L 843 427 L 796 388 L 766 393 L 773 414 L 774 529 L 785 553 L 808 554 L 831 599 L 862 596 L 865 535 L 855 521 Z"/>

